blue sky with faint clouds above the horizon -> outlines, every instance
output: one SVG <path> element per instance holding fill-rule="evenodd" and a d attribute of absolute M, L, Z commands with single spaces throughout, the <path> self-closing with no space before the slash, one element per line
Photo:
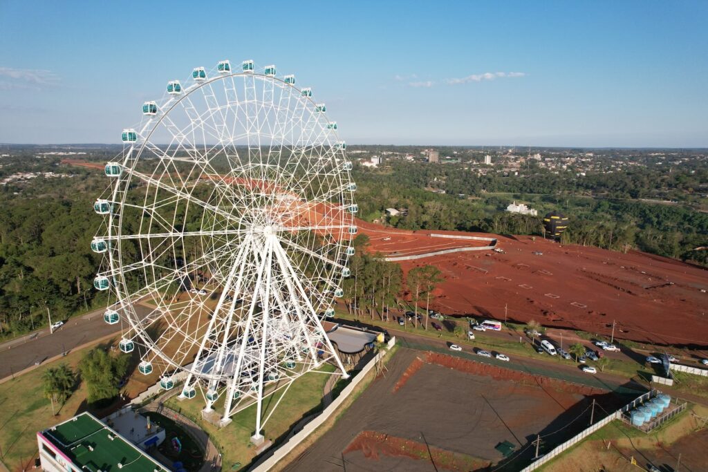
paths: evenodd
<path fill-rule="evenodd" d="M 219 59 L 350 144 L 708 146 L 708 2 L 0 0 L 0 142 L 118 142 Z"/>

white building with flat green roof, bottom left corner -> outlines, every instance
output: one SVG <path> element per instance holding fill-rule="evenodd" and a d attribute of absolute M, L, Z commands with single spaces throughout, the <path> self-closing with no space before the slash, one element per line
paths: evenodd
<path fill-rule="evenodd" d="M 42 470 L 48 472 L 168 472 L 91 413 L 37 433 Z"/>

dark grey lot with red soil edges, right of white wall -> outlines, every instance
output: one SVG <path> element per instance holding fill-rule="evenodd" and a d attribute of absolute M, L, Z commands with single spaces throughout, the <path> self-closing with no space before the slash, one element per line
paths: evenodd
<path fill-rule="evenodd" d="M 564 384 L 495 379 L 442 364 L 439 355 L 400 349 L 386 376 L 373 381 L 287 470 L 482 469 L 503 460 L 495 449 L 500 442 L 514 444 L 530 458 L 537 434 L 544 437 L 541 449 L 550 449 L 590 420 L 590 397 L 572 386 L 564 391 Z M 593 398 L 606 408 L 617 403 L 606 393 Z M 362 432 L 380 435 L 364 441 Z"/>

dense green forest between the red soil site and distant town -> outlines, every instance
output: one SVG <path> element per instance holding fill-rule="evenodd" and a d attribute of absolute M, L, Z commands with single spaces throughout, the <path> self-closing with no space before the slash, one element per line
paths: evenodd
<path fill-rule="evenodd" d="M 355 180 L 361 216 L 372 221 L 381 219 L 386 208 L 405 208 L 405 217 L 388 219 L 388 224 L 398 228 L 542 235 L 542 216 L 559 210 L 570 219 L 564 243 L 612 250 L 636 248 L 708 265 L 708 251 L 695 251 L 708 245 L 707 213 L 687 205 L 635 198 L 644 195 L 644 185 L 671 188 L 672 192 L 683 191 L 683 186 L 689 189 L 704 185 L 708 181 L 705 170 L 677 171 L 669 176 L 649 169 L 587 178 L 547 171 L 503 176 L 397 161 L 383 171 L 357 168 Z M 436 188 L 446 193 L 430 191 Z M 583 195 L 586 190 L 607 196 Z M 505 212 L 513 200 L 537 209 L 538 216 Z"/>

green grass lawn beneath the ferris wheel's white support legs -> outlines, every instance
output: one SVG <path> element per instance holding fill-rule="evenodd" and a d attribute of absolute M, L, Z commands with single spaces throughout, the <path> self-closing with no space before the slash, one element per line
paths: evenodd
<path fill-rule="evenodd" d="M 324 372 L 334 372 L 335 367 L 330 364 L 324 364 L 320 370 Z M 278 405 L 278 410 L 270 417 L 267 423 L 263 426 L 263 435 L 265 439 L 270 439 L 275 442 L 276 439 L 290 431 L 290 428 L 295 425 L 304 415 L 315 408 L 321 407 L 322 393 L 326 384 L 328 374 L 310 372 L 304 374 L 297 379 L 283 396 L 282 401 Z M 275 406 L 275 403 L 282 396 L 285 389 L 274 393 L 263 403 L 263 418 L 268 416 L 270 411 Z M 172 408 L 179 413 L 191 418 L 203 430 L 209 434 L 212 441 L 217 444 L 219 451 L 222 453 L 222 464 L 224 470 L 239 470 L 249 465 L 256 454 L 255 448 L 251 444 L 251 436 L 256 426 L 256 405 L 251 405 L 249 408 L 236 413 L 232 416 L 232 422 L 219 429 L 209 422 L 202 420 L 201 410 L 204 408 L 204 403 L 199 398 L 192 400 L 178 401 L 176 398 L 170 398 L 166 402 L 169 408 Z M 215 410 L 219 410 L 223 406 L 223 400 L 215 404 Z M 234 464 L 241 464 L 232 468 Z"/>

